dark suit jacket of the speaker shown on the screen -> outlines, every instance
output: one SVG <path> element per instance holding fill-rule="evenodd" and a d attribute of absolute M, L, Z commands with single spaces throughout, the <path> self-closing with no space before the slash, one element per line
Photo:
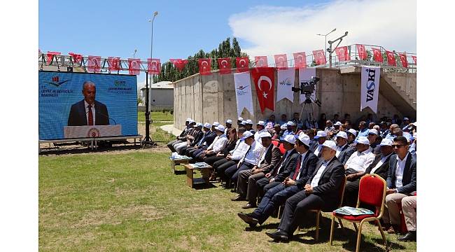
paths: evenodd
<path fill-rule="evenodd" d="M 85 116 L 84 100 L 71 105 L 69 111 L 68 126 L 88 125 L 87 116 Z M 106 105 L 94 101 L 94 125 L 109 125 L 109 113 Z"/>

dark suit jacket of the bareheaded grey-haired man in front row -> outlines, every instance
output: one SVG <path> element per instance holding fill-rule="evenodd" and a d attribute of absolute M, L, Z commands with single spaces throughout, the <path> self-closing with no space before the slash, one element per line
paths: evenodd
<path fill-rule="evenodd" d="M 314 176 L 318 173 L 319 167 L 323 164 L 323 160 L 319 160 L 313 175 L 311 175 L 307 181 L 307 184 L 311 185 L 311 181 Z M 324 172 L 321 174 L 321 178 L 318 181 L 318 186 L 313 188 L 313 194 L 318 195 L 324 201 L 323 210 L 332 211 L 339 206 L 341 195 L 339 195 L 339 187 L 342 186 L 344 181 L 344 166 L 337 158 L 332 158 L 325 167 Z"/>

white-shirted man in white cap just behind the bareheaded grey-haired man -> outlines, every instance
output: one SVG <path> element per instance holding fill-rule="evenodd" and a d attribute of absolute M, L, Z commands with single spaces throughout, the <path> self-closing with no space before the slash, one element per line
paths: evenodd
<path fill-rule="evenodd" d="M 374 160 L 374 154 L 370 150 L 370 141 L 368 141 L 367 137 L 358 137 L 354 143 L 356 144 L 357 151 L 352 153 L 349 160 L 347 160 L 346 165 L 344 165 L 346 176 L 358 172 L 365 172 L 367 167 L 370 166 Z"/>

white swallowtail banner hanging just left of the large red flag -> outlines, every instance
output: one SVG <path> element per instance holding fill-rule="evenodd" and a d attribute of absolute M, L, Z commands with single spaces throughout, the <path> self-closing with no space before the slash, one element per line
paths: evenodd
<path fill-rule="evenodd" d="M 253 111 L 253 96 L 251 94 L 250 72 L 234 73 L 235 98 L 237 99 L 237 117 L 246 108 L 251 115 Z"/>

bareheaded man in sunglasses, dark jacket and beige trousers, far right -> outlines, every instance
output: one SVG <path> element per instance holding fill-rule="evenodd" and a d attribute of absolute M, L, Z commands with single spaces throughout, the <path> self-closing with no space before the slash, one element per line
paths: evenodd
<path fill-rule="evenodd" d="M 395 155 L 389 161 L 386 207 L 382 220 L 388 233 L 398 233 L 401 223 L 398 203 L 402 198 L 414 195 L 417 188 L 417 165 L 407 150 L 409 145 L 405 137 L 395 137 L 392 146 Z"/>

